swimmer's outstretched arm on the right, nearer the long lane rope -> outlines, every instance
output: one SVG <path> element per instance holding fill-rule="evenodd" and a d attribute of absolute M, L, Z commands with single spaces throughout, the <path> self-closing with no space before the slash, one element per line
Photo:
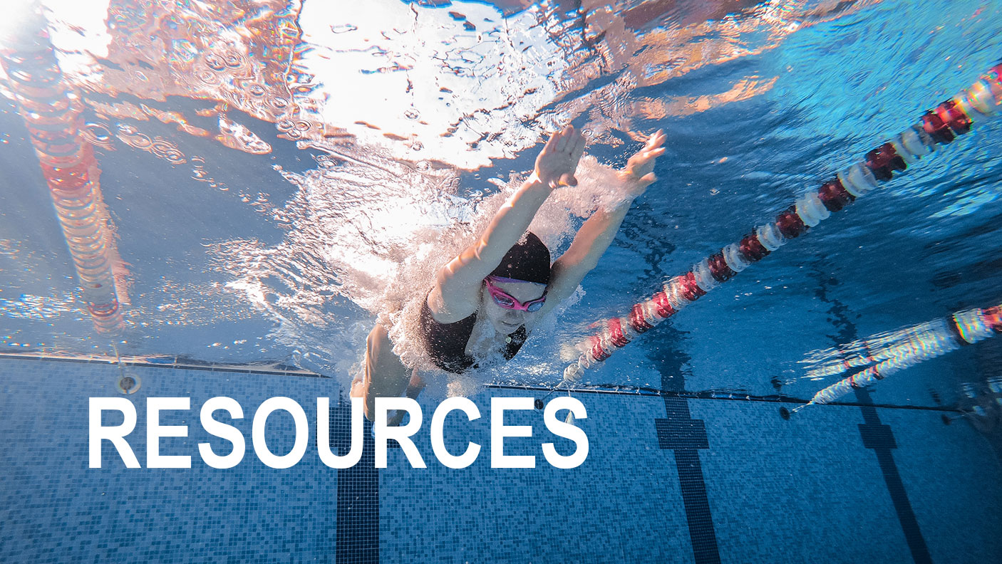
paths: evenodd
<path fill-rule="evenodd" d="M 657 179 L 653 173 L 654 160 L 664 153 L 664 147 L 661 146 L 664 140 L 664 133 L 657 131 L 642 149 L 630 157 L 626 166 L 619 171 L 621 183 L 616 186 L 624 200 L 613 208 L 598 209 L 592 213 L 574 235 L 567 252 L 553 262 L 546 305 L 543 307 L 544 314 L 570 298 L 585 274 L 598 265 L 598 259 L 612 243 L 629 211 L 630 203 Z"/>

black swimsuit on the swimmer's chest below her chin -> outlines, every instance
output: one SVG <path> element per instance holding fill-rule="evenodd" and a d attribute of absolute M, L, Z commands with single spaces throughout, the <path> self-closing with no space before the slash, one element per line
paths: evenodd
<path fill-rule="evenodd" d="M 425 338 L 425 348 L 428 356 L 438 368 L 460 374 L 467 369 L 477 368 L 476 360 L 466 354 L 466 344 L 473 335 L 473 326 L 477 323 L 477 314 L 451 324 L 440 324 L 432 318 L 428 308 L 428 298 L 421 305 L 421 330 Z M 525 326 L 519 326 L 514 333 L 508 335 L 508 341 L 503 351 L 504 360 L 510 361 L 522 348 L 528 337 Z"/>

